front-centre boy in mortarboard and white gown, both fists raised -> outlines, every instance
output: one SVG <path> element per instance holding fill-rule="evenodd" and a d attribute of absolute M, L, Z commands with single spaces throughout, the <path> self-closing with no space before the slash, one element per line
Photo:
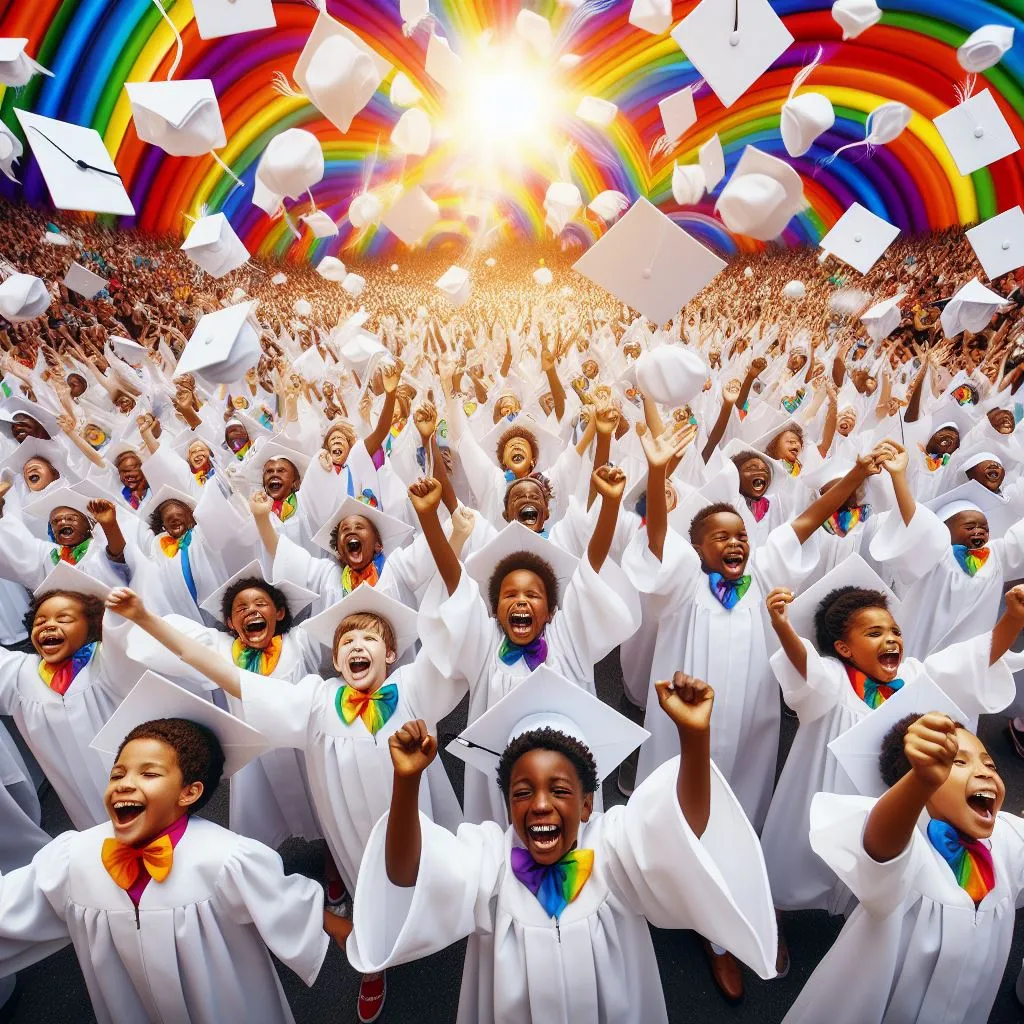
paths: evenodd
<path fill-rule="evenodd" d="M 355 895 L 356 969 L 469 936 L 460 1021 L 657 1024 L 668 1014 L 649 921 L 707 930 L 770 977 L 774 925 L 757 838 L 708 753 L 714 693 L 681 673 L 656 689 L 679 756 L 604 814 L 594 810 L 598 784 L 636 745 L 637 727 L 548 670 L 461 737 L 461 756 L 492 785 L 497 764 L 508 827 L 466 824 L 453 836 L 420 814 L 437 743 L 422 721 L 394 733 L 391 808 Z"/>

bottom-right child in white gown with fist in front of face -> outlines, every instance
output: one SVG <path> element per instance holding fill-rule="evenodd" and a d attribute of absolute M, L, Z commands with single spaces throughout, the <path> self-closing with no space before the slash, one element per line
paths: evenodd
<path fill-rule="evenodd" d="M 1024 617 L 1024 596 L 1015 605 Z M 860 905 L 784 1024 L 980 1024 L 1013 940 L 1024 825 L 999 813 L 984 744 L 946 715 L 897 722 L 879 767 L 880 799 L 819 794 L 811 806 L 811 845 Z M 866 983 L 850 984 L 852 965 Z"/>

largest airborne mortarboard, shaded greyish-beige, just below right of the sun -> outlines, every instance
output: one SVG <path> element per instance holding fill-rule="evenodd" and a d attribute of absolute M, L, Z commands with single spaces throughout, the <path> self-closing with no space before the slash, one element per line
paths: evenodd
<path fill-rule="evenodd" d="M 658 327 L 724 268 L 723 260 L 643 197 L 573 264 Z"/>

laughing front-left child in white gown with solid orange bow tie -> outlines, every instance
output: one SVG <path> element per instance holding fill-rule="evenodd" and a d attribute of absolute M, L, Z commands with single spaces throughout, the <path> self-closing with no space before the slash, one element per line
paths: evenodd
<path fill-rule="evenodd" d="M 145 721 L 154 705 L 185 717 Z M 71 941 L 101 1024 L 291 1022 L 270 952 L 311 985 L 347 923 L 272 850 L 194 816 L 260 740 L 146 674 L 96 737 L 104 822 L 0 879 L 0 974 Z"/>

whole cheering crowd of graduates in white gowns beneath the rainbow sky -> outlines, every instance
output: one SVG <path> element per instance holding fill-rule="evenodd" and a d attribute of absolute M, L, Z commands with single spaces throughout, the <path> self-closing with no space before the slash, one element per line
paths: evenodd
<path fill-rule="evenodd" d="M 0 1000 L 71 943 L 97 1020 L 287 1021 L 270 953 L 312 984 L 334 941 L 372 1021 L 468 938 L 460 1022 L 649 1024 L 648 924 L 736 1002 L 825 910 L 787 1024 L 988 1018 L 1024 899 L 977 735 L 1024 758 L 1024 272 L 949 336 L 959 228 L 864 275 L 773 249 L 658 330 L 555 244 L 342 252 L 346 290 L 0 213 L 48 300 L 0 321 L 0 714 L 75 829 L 0 726 Z"/>

